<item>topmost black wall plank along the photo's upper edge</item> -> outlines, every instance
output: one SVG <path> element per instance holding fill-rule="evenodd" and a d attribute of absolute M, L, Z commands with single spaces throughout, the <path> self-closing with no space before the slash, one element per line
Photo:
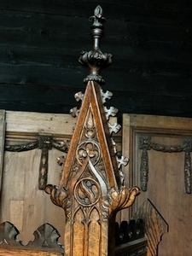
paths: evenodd
<path fill-rule="evenodd" d="M 129 20 L 153 20 L 162 22 L 164 18 L 166 23 L 183 22 L 191 15 L 192 3 L 187 1 L 148 1 L 148 0 L 121 0 L 114 2 L 113 0 L 101 0 L 87 2 L 81 1 L 62 1 L 58 0 L 3 0 L 0 3 L 0 9 L 15 9 L 23 11 L 32 11 L 36 13 L 49 13 L 56 15 L 82 16 L 89 17 L 96 5 L 102 5 L 104 14 L 107 17 L 113 17 L 113 20 L 122 19 Z M 182 11 L 183 15 L 178 15 Z M 172 20 L 175 19 L 175 20 Z"/>

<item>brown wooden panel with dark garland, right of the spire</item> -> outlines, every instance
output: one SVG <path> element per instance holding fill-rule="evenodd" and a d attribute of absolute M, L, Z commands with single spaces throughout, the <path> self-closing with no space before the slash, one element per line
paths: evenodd
<path fill-rule="evenodd" d="M 137 185 L 141 195 L 129 219 L 149 199 L 169 226 L 162 236 L 159 256 L 190 256 L 192 252 L 192 119 L 124 114 L 123 155 L 125 184 Z"/>

